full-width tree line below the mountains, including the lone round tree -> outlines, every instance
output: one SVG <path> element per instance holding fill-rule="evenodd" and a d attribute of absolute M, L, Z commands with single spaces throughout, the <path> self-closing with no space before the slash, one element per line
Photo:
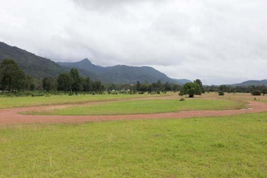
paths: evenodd
<path fill-rule="evenodd" d="M 130 94 L 142 94 L 144 92 L 152 94 L 166 93 L 167 91 L 178 92 L 180 95 L 201 95 L 206 92 L 227 92 L 227 93 L 262 93 L 267 94 L 267 87 L 262 86 L 229 86 L 211 85 L 202 86 L 200 79 L 189 82 L 183 86 L 175 83 L 157 81 L 149 84 L 148 82 L 137 81 L 134 84 L 102 84 L 101 81 L 92 81 L 89 77 L 82 77 L 77 69 L 64 72 L 54 77 L 44 77 L 42 79 L 33 78 L 25 74 L 14 60 L 6 59 L 0 64 L 0 90 L 1 91 L 63 91 L 77 92 L 96 92 L 103 93 L 108 91 L 129 91 Z"/>

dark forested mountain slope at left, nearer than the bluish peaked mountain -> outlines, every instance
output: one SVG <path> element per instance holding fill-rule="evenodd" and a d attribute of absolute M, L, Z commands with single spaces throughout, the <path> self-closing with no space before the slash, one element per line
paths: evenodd
<path fill-rule="evenodd" d="M 48 58 L 40 57 L 18 47 L 0 42 L 0 62 L 6 58 L 15 60 L 26 74 L 34 78 L 57 77 L 60 73 L 69 72 L 71 69 L 70 67 L 58 65 Z M 95 80 L 102 79 L 87 70 L 79 69 L 79 73 L 82 76 L 90 76 Z"/>

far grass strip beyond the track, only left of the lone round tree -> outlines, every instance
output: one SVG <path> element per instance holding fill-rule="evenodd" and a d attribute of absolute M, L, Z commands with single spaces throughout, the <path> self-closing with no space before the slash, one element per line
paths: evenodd
<path fill-rule="evenodd" d="M 74 104 L 95 101 L 109 101 L 139 97 L 160 97 L 161 95 L 50 95 L 49 97 L 0 97 L 0 109 L 27 106 Z"/>

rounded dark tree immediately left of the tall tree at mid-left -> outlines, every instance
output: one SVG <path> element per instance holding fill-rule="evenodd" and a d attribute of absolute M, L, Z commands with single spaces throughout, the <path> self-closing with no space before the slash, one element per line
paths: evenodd
<path fill-rule="evenodd" d="M 58 91 L 71 91 L 73 80 L 69 73 L 61 73 L 57 77 L 57 90 Z"/>

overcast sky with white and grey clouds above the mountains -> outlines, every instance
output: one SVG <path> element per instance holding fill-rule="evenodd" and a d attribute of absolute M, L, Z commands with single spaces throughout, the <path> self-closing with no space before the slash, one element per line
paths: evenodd
<path fill-rule="evenodd" d="M 204 84 L 267 79 L 266 0 L 0 1 L 0 41 L 53 61 L 152 66 Z"/>

